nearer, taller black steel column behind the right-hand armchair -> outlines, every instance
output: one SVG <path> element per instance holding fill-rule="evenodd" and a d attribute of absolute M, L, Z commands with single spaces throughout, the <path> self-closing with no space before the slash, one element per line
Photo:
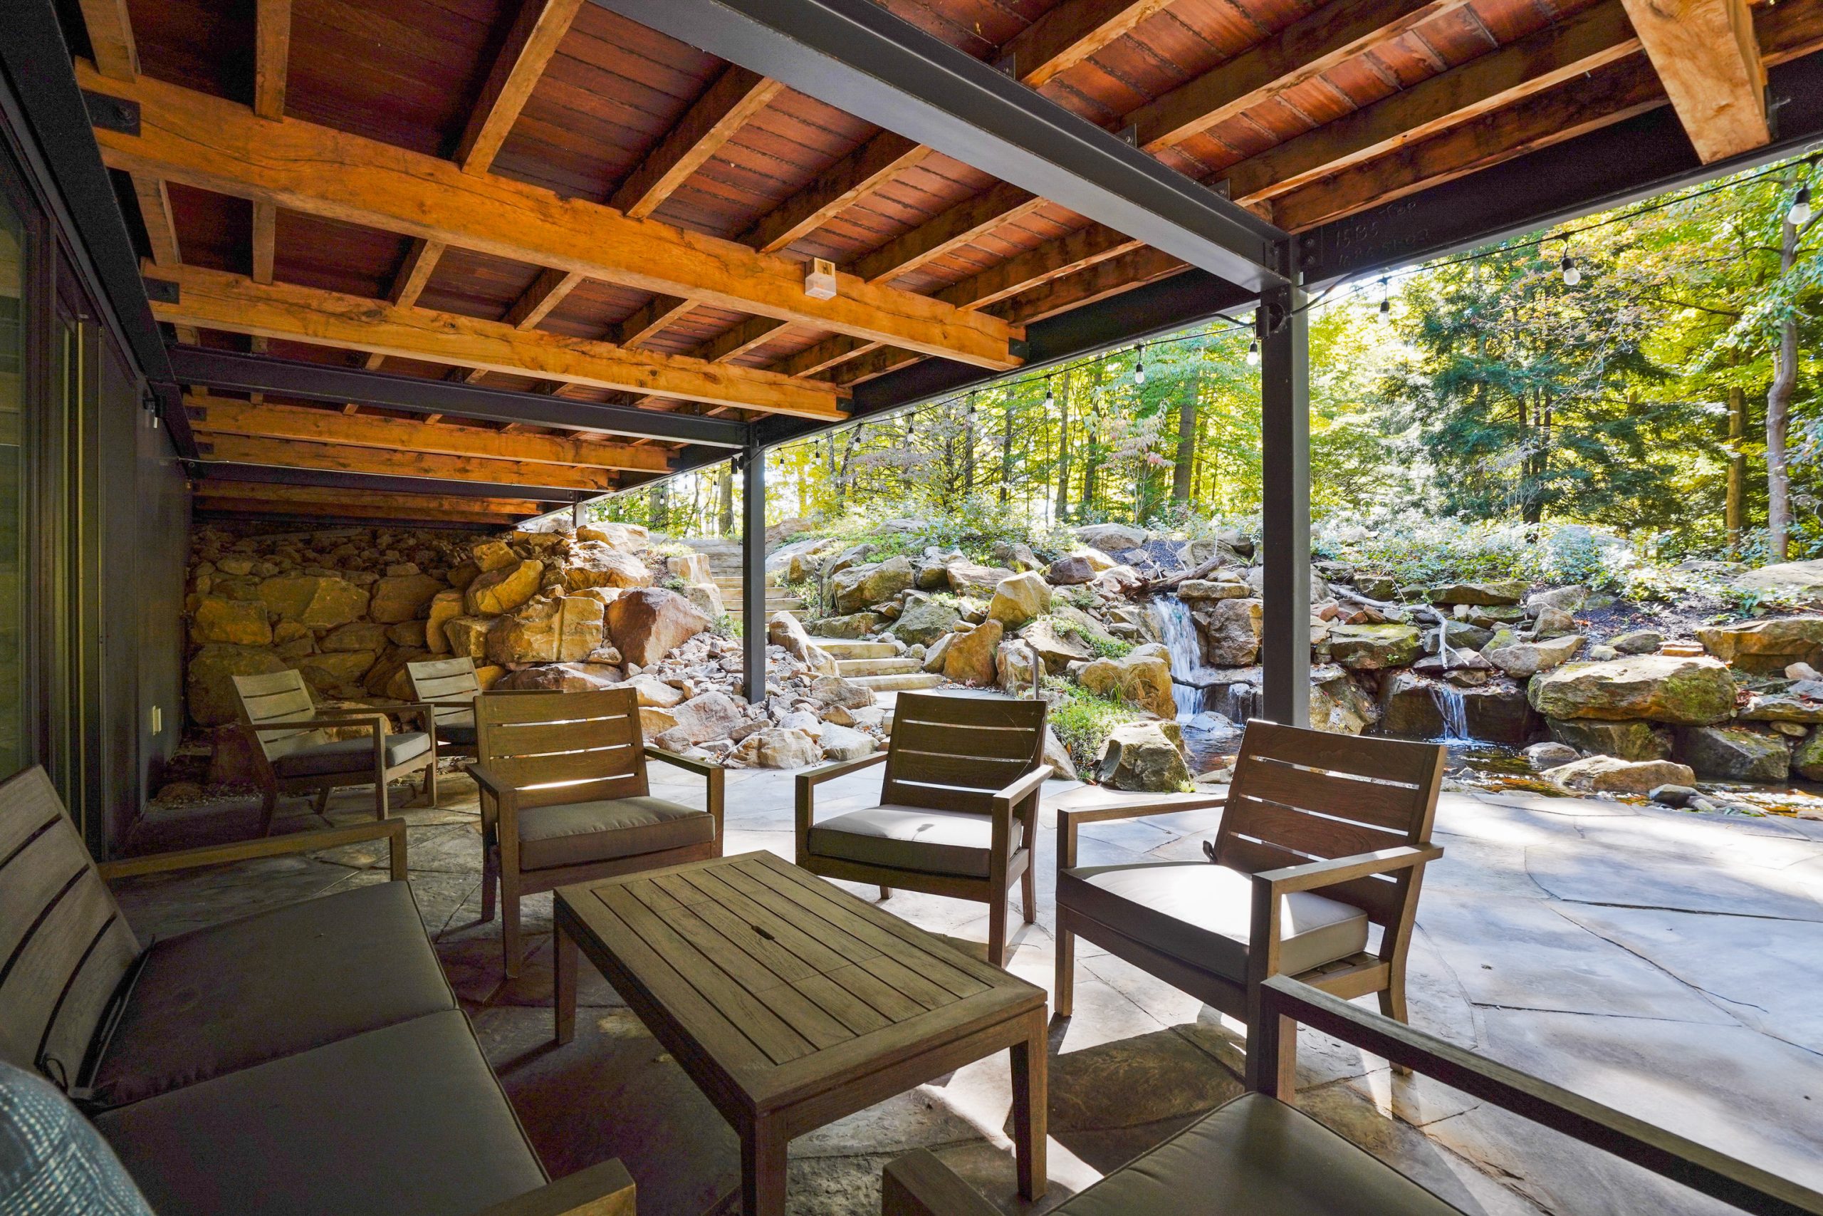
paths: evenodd
<path fill-rule="evenodd" d="M 1285 246 L 1291 264 L 1291 242 Z M 1303 288 L 1260 297 L 1260 481 L 1265 583 L 1263 713 L 1311 724 L 1311 332 Z"/>

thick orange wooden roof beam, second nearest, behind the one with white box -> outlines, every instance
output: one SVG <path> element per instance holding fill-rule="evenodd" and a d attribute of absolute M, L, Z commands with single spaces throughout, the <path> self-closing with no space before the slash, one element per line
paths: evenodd
<path fill-rule="evenodd" d="M 399 308 L 288 283 L 259 284 L 199 266 L 159 270 L 153 277 L 171 281 L 179 288 L 177 303 L 153 303 L 153 315 L 160 321 L 622 392 L 656 392 L 684 401 L 738 405 L 800 417 L 842 417 L 833 390 L 775 372 L 623 350 L 609 343 L 516 330 L 500 321 Z"/>

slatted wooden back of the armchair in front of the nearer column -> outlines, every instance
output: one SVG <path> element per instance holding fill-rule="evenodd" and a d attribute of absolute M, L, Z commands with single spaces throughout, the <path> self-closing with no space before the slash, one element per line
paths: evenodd
<path fill-rule="evenodd" d="M 1216 835 L 1216 860 L 1243 873 L 1427 844 L 1444 747 L 1251 720 Z M 1411 871 L 1322 888 L 1398 926 Z"/>

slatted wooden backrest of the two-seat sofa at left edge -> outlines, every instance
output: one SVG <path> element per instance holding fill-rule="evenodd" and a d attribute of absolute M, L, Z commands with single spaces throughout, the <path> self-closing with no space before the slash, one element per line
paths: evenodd
<path fill-rule="evenodd" d="M 139 941 L 42 768 L 0 784 L 0 1059 L 69 1088 Z"/>

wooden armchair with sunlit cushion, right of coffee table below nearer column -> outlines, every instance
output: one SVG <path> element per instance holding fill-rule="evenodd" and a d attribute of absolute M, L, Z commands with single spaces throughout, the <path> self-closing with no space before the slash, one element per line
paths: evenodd
<path fill-rule="evenodd" d="M 1418 886 L 1444 853 L 1429 842 L 1442 778 L 1435 744 L 1252 720 L 1205 846 L 1214 864 L 1079 868 L 1085 820 L 1148 811 L 1059 811 L 1056 1012 L 1070 1014 L 1081 935 L 1249 1026 L 1260 983 L 1278 974 L 1345 999 L 1376 992 L 1406 1021 Z"/>

